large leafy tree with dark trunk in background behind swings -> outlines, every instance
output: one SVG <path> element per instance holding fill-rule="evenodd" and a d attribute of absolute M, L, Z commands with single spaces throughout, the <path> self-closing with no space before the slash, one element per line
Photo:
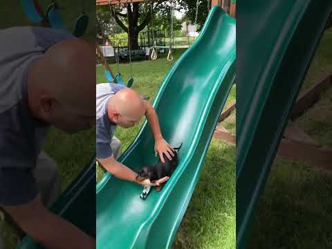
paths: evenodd
<path fill-rule="evenodd" d="M 197 24 L 203 26 L 208 16 L 208 2 L 207 0 L 199 1 Z M 174 10 L 185 10 L 185 19 L 183 19 L 183 21 L 194 23 L 196 16 L 196 0 L 173 0 L 173 7 Z M 125 33 L 129 34 L 128 44 L 130 44 L 131 50 L 137 50 L 139 48 L 138 34 L 151 22 L 151 17 L 154 19 L 154 27 L 158 26 L 158 28 L 163 28 L 167 30 L 169 34 L 170 1 L 153 0 L 112 6 L 98 6 L 97 16 L 99 17 L 97 22 L 100 23 L 100 26 L 104 25 L 101 25 L 102 23 L 108 23 L 111 19 L 116 21 L 116 24 L 118 24 Z M 180 21 L 176 21 L 174 18 L 174 30 L 180 27 Z M 101 28 L 99 27 L 97 30 L 101 30 Z"/>

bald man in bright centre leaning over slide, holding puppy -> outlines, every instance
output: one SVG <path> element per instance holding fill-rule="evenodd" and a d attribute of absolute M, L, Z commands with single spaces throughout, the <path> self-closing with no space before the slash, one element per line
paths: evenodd
<path fill-rule="evenodd" d="M 164 155 L 172 160 L 172 147 L 165 141 L 160 132 L 158 117 L 149 102 L 142 100 L 132 89 L 120 84 L 98 84 L 96 86 L 96 150 L 98 162 L 114 176 L 122 180 L 132 181 L 140 185 L 160 185 L 168 180 L 164 177 L 151 183 L 149 179 L 138 181 L 137 173 L 116 160 L 121 154 L 121 143 L 114 136 L 116 126 L 133 127 L 146 116 L 154 135 L 155 155 L 165 163 Z"/>

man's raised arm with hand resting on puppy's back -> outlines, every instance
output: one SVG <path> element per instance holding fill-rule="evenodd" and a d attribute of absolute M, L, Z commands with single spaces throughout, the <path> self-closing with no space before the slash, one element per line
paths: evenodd
<path fill-rule="evenodd" d="M 145 110 L 145 117 L 147 117 L 147 122 L 149 122 L 151 131 L 154 134 L 155 156 L 159 154 L 160 160 L 162 160 L 163 163 L 165 163 L 163 154 L 165 154 L 169 160 L 172 160 L 172 156 L 174 156 L 173 149 L 166 142 L 166 140 L 163 138 L 163 135 L 161 134 L 158 116 L 156 111 L 154 110 L 154 107 L 152 107 L 149 102 L 145 101 Z"/>

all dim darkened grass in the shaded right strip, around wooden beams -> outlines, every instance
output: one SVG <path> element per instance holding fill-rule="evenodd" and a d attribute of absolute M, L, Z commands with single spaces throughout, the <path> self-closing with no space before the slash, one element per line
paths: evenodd
<path fill-rule="evenodd" d="M 326 30 L 304 81 L 332 72 L 332 28 Z M 332 149 L 332 89 L 296 120 L 322 147 Z M 252 223 L 248 248 L 332 248 L 332 172 L 275 160 Z"/>

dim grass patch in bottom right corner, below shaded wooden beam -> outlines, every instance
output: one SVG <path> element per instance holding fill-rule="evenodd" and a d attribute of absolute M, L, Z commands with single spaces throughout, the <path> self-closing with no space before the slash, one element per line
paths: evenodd
<path fill-rule="evenodd" d="M 303 163 L 274 163 L 248 248 L 332 248 L 331 179 Z"/>

